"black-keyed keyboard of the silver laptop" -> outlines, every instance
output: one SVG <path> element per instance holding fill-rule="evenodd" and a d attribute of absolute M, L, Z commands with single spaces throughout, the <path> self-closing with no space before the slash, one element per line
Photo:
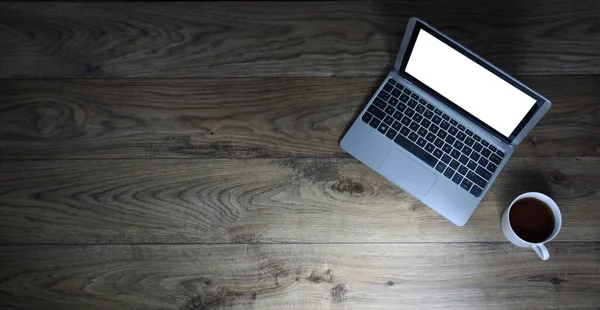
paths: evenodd
<path fill-rule="evenodd" d="M 475 197 L 504 158 L 498 148 L 393 79 L 362 120 Z"/>

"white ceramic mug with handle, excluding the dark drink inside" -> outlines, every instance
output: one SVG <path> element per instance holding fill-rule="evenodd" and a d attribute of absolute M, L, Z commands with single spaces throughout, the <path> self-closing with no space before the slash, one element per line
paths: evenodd
<path fill-rule="evenodd" d="M 521 199 L 524 199 L 524 198 L 534 198 L 534 199 L 537 199 L 537 200 L 545 203 L 552 210 L 552 214 L 554 214 L 554 230 L 552 231 L 552 234 L 548 238 L 546 238 L 546 240 L 544 240 L 540 243 L 531 243 L 531 242 L 521 239 L 521 237 L 517 236 L 517 234 L 515 233 L 515 231 L 513 230 L 513 228 L 510 225 L 509 214 L 510 214 L 510 210 L 512 209 L 512 206 L 515 204 L 515 202 L 517 202 Z M 556 235 L 558 234 L 558 231 L 560 231 L 561 226 L 562 226 L 562 216 L 560 214 L 560 210 L 558 209 L 558 206 L 556 205 L 556 202 L 554 202 L 554 200 L 552 200 L 552 198 L 550 198 L 542 193 L 529 192 L 529 193 L 520 195 L 519 197 L 515 198 L 515 200 L 513 200 L 513 202 L 510 204 L 510 206 L 508 208 L 506 208 L 506 211 L 504 211 L 504 215 L 502 216 L 502 232 L 504 233 L 504 235 L 506 236 L 508 241 L 512 242 L 516 246 L 520 246 L 520 247 L 524 247 L 524 248 L 529 248 L 529 247 L 533 248 L 533 250 L 543 260 L 547 260 L 548 258 L 550 258 L 550 253 L 548 253 L 548 249 L 546 248 L 544 243 L 554 239 L 554 237 L 556 237 Z"/>

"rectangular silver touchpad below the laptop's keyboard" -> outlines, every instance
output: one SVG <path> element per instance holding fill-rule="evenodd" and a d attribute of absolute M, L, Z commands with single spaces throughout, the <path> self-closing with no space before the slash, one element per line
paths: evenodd
<path fill-rule="evenodd" d="M 393 149 L 381 165 L 396 180 L 425 196 L 437 180 L 437 175 L 404 153 Z"/>

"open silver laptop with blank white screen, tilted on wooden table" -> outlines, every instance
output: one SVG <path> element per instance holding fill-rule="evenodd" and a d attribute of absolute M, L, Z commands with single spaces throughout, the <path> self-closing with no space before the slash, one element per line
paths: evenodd
<path fill-rule="evenodd" d="M 343 150 L 463 226 L 550 101 L 418 18 Z"/>

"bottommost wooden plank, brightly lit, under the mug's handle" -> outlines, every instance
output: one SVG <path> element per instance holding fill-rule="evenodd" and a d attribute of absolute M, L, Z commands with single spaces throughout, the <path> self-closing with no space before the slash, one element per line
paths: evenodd
<path fill-rule="evenodd" d="M 584 309 L 598 243 L 0 247 L 0 307 Z"/>

